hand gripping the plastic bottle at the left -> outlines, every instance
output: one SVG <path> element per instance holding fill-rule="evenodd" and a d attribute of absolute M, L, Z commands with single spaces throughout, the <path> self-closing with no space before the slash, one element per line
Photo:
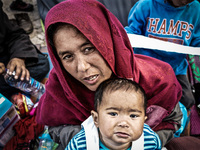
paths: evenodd
<path fill-rule="evenodd" d="M 26 69 L 24 59 L 12 58 L 7 65 L 7 69 L 10 75 L 12 75 L 13 71 L 15 71 L 15 79 L 18 79 L 19 76 L 20 76 L 20 80 L 24 80 L 25 77 L 26 77 L 26 80 L 29 80 L 30 78 L 30 73 Z"/>

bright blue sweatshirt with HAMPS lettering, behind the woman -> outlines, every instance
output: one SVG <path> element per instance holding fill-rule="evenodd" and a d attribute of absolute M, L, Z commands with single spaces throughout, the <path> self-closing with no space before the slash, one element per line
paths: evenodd
<path fill-rule="evenodd" d="M 127 33 L 186 46 L 200 47 L 200 3 L 173 7 L 166 0 L 139 0 L 130 10 Z M 135 48 L 134 53 L 169 63 L 176 75 L 186 75 L 186 54 Z"/>

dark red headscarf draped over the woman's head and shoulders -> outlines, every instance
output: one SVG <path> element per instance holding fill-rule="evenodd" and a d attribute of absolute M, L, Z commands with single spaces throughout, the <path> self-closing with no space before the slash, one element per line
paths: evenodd
<path fill-rule="evenodd" d="M 158 105 L 166 110 L 160 118 L 171 113 L 181 97 L 181 87 L 172 68 L 157 59 L 134 55 L 123 26 L 101 3 L 67 0 L 57 4 L 45 19 L 46 39 L 48 27 L 57 22 L 72 24 L 80 30 L 117 77 L 138 82 L 147 93 L 148 106 Z M 37 121 L 49 126 L 81 124 L 94 108 L 94 92 L 60 66 L 48 40 L 47 46 L 54 68 L 39 101 Z M 162 123 L 159 125 L 164 128 Z"/>

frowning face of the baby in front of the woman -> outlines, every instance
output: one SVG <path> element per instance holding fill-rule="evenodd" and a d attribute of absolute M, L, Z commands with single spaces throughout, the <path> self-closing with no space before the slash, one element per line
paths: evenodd
<path fill-rule="evenodd" d="M 94 121 L 105 146 L 124 149 L 141 136 L 145 119 L 140 93 L 115 91 L 104 93 Z"/>

